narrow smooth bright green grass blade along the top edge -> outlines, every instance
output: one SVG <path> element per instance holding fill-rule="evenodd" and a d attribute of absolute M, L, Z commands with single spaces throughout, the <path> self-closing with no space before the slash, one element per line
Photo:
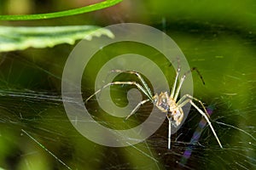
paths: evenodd
<path fill-rule="evenodd" d="M 43 20 L 58 18 L 63 16 L 70 16 L 74 14 L 84 14 L 91 11 L 96 11 L 102 8 L 111 7 L 117 3 L 120 3 L 122 0 L 106 0 L 101 3 L 92 4 L 82 8 L 74 8 L 65 11 L 59 11 L 55 13 L 47 14 L 15 14 L 15 15 L 0 15 L 0 20 Z"/>

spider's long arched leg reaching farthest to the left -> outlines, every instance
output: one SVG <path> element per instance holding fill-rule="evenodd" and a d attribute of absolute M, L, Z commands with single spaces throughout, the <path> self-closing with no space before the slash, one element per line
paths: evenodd
<path fill-rule="evenodd" d="M 145 94 L 145 95 L 148 97 L 148 99 L 151 100 L 151 96 L 148 94 L 148 92 L 147 92 L 140 84 L 138 84 L 137 82 L 109 82 L 108 84 L 106 84 L 106 85 L 103 86 L 102 88 L 98 89 L 94 94 L 91 94 L 90 97 L 85 100 L 85 103 L 87 103 L 87 101 L 88 101 L 89 99 L 91 99 L 94 95 L 100 93 L 100 92 L 102 91 L 102 89 L 108 88 L 108 86 L 112 86 L 112 85 L 123 85 L 123 84 L 128 84 L 128 85 L 135 85 L 135 86 L 137 86 L 137 88 L 138 88 L 139 90 L 141 90 L 141 91 L 143 92 L 143 94 Z"/>

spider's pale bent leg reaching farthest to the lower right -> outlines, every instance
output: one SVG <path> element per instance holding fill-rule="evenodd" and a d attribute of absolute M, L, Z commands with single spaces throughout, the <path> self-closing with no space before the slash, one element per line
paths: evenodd
<path fill-rule="evenodd" d="M 205 110 L 206 112 L 201 111 L 201 109 L 199 109 L 199 107 L 198 107 L 197 105 L 195 105 L 195 103 L 192 101 L 192 99 L 186 99 L 186 100 L 184 100 L 182 103 L 180 103 L 180 101 L 181 101 L 182 99 L 184 99 L 184 97 L 187 97 L 187 96 L 189 96 L 189 98 L 195 99 L 194 97 L 190 96 L 189 94 L 184 95 L 184 96 L 177 102 L 178 107 L 183 107 L 183 106 L 186 105 L 187 103 L 190 103 L 191 105 L 193 105 L 193 106 L 195 107 L 195 109 L 196 109 L 197 111 L 199 111 L 199 113 L 201 114 L 201 116 L 204 116 L 204 117 L 205 117 L 205 119 L 207 120 L 207 123 L 208 123 L 209 126 L 211 127 L 211 130 L 212 130 L 212 133 L 213 133 L 215 139 L 217 139 L 217 141 L 218 141 L 218 145 L 220 146 L 220 148 L 223 148 L 222 144 L 220 143 L 220 141 L 219 141 L 219 139 L 218 139 L 217 134 L 215 133 L 214 128 L 212 127 L 212 123 L 210 122 L 210 120 L 209 120 L 209 118 L 208 118 L 208 114 L 207 114 L 207 111 L 206 111 L 205 107 L 203 106 L 203 108 L 204 108 L 204 110 Z M 195 99 L 195 100 L 196 100 L 196 101 L 199 101 L 199 102 L 201 103 L 201 105 L 202 105 L 201 100 L 199 100 L 199 99 Z"/>

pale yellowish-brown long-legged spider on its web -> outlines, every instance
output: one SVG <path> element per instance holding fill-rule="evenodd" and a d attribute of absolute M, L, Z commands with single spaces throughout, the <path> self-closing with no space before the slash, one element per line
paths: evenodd
<path fill-rule="evenodd" d="M 191 71 L 197 71 L 197 70 L 194 67 L 194 68 L 191 69 Z M 137 86 L 137 88 L 141 92 L 143 92 L 143 94 L 145 94 L 148 97 L 148 99 L 145 99 L 145 100 L 139 102 L 137 104 L 137 106 L 131 111 L 131 113 L 128 116 L 126 116 L 125 120 L 127 120 L 130 116 L 132 116 L 141 105 L 144 105 L 148 101 L 151 101 L 158 109 L 160 109 L 160 111 L 166 113 L 166 117 L 167 117 L 168 122 L 169 122 L 168 149 L 171 149 L 171 127 L 172 127 L 172 125 L 174 125 L 175 127 L 180 125 L 180 123 L 183 121 L 183 109 L 182 109 L 182 107 L 184 105 L 190 103 L 191 105 L 193 105 L 195 107 L 195 109 L 197 111 L 199 111 L 199 113 L 202 116 L 205 117 L 205 119 L 207 120 L 209 126 L 212 129 L 212 133 L 214 134 L 214 137 L 218 141 L 218 144 L 219 144 L 220 148 L 223 148 L 222 144 L 220 143 L 220 141 L 218 139 L 217 134 L 215 133 L 214 128 L 212 127 L 211 122 L 209 121 L 209 116 L 207 114 L 207 110 L 206 110 L 205 106 L 202 104 L 201 100 L 196 99 L 196 98 L 194 98 L 193 96 L 191 96 L 189 94 L 185 94 L 185 95 L 183 95 L 182 98 L 177 100 L 178 94 L 179 94 L 180 89 L 181 89 L 181 87 L 183 85 L 183 81 L 185 80 L 186 75 L 189 72 L 191 72 L 191 71 L 188 71 L 185 74 L 183 74 L 183 77 L 181 78 L 179 84 L 177 85 L 177 78 L 178 78 L 178 75 L 180 73 L 180 68 L 177 68 L 175 82 L 172 85 L 172 92 L 171 92 L 171 94 L 169 95 L 167 92 L 161 92 L 160 94 L 154 94 L 154 96 L 153 96 L 153 94 L 151 93 L 150 88 L 148 88 L 148 84 L 144 81 L 143 77 L 137 71 L 113 70 L 112 72 L 129 73 L 129 74 L 136 75 L 137 78 L 140 80 L 140 82 L 142 82 L 143 86 L 141 84 L 137 83 L 137 82 L 109 82 L 108 84 L 103 86 L 101 89 L 98 89 L 94 94 L 90 95 L 90 97 L 88 99 L 86 99 L 85 102 L 87 102 L 89 99 L 91 99 L 94 95 L 96 95 L 99 92 L 101 92 L 101 90 L 103 88 L 107 88 L 108 86 L 112 86 L 112 85 L 125 85 L 125 84 Z M 197 72 L 199 73 L 199 71 L 197 71 Z M 200 73 L 199 73 L 199 75 L 200 75 Z M 202 77 L 201 77 L 201 79 L 202 79 Z M 176 88 L 177 88 L 177 90 L 176 90 Z M 201 106 L 202 106 L 204 111 L 201 111 L 201 109 L 197 105 L 195 105 L 193 100 L 199 102 L 201 104 Z"/>

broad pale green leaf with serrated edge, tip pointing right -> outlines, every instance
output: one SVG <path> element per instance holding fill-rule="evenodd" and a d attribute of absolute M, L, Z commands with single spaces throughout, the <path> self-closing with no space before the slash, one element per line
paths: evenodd
<path fill-rule="evenodd" d="M 76 40 L 100 37 L 113 38 L 113 33 L 98 26 L 42 26 L 11 27 L 0 26 L 0 52 L 26 48 L 54 47 L 57 44 L 73 44 Z"/>

